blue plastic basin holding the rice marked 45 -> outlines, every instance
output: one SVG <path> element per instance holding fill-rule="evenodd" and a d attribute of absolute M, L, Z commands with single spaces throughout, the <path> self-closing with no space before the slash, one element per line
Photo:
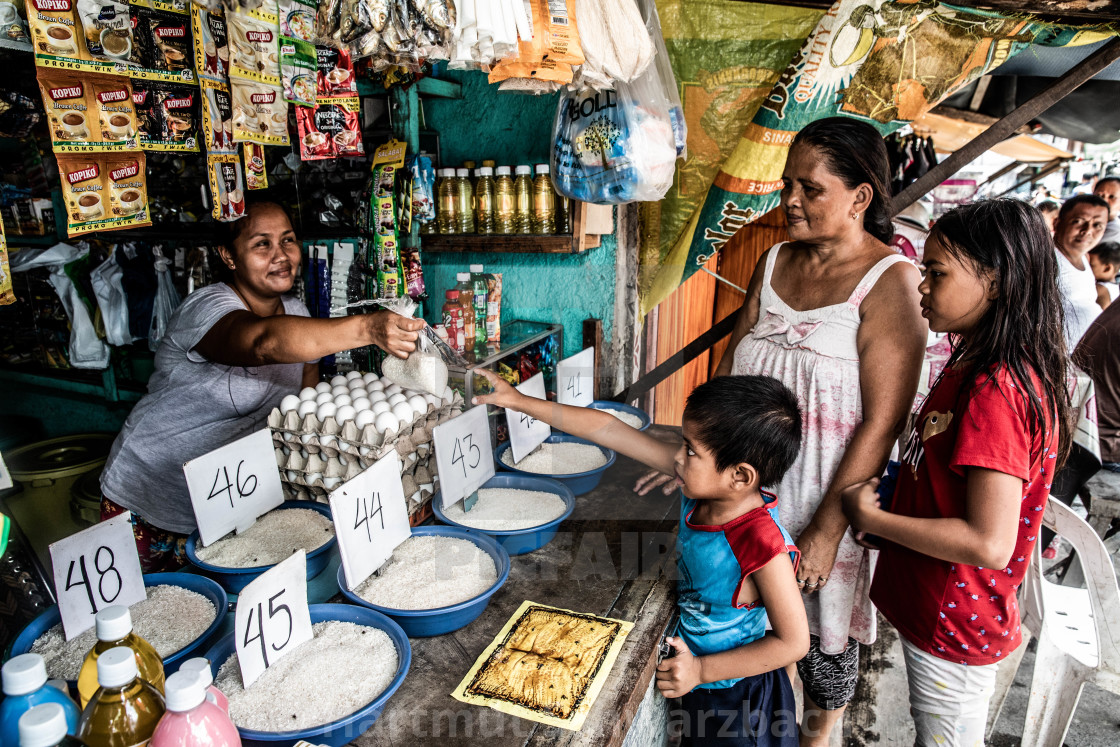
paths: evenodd
<path fill-rule="evenodd" d="M 312 625 L 328 620 L 342 620 L 343 623 L 355 623 L 356 625 L 365 625 L 384 631 L 392 638 L 393 645 L 396 646 L 396 674 L 393 676 L 392 682 L 389 683 L 389 687 L 385 688 L 385 691 L 374 698 L 373 701 L 337 721 L 296 731 L 256 731 L 254 729 L 239 728 L 241 744 L 245 747 L 289 747 L 300 739 L 309 741 L 312 745 L 340 747 L 370 730 L 373 722 L 381 716 L 381 711 L 384 710 L 389 698 L 404 682 L 404 675 L 408 674 L 409 665 L 412 663 L 412 647 L 409 645 L 409 639 L 404 635 L 404 631 L 396 623 L 381 613 L 353 605 L 311 605 L 309 609 L 311 611 Z M 223 636 L 222 639 L 206 652 L 206 659 L 213 664 L 215 673 L 235 651 L 233 636 L 233 633 Z"/>

